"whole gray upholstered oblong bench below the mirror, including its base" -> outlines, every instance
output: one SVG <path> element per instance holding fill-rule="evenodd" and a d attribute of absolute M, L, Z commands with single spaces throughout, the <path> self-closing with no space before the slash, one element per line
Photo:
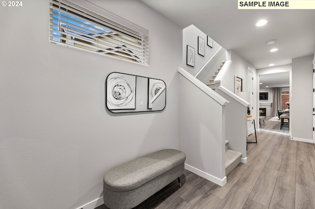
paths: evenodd
<path fill-rule="evenodd" d="M 131 209 L 184 173 L 186 155 L 165 149 L 111 168 L 104 175 L 104 204 Z"/>

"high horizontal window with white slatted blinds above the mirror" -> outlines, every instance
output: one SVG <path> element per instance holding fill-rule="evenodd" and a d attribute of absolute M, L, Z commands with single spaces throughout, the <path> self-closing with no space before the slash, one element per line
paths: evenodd
<path fill-rule="evenodd" d="M 149 65 L 149 31 L 87 0 L 50 0 L 50 42 Z"/>

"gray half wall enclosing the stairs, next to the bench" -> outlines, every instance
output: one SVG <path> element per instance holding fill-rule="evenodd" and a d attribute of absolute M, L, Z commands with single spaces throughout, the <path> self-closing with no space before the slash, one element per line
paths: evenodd
<path fill-rule="evenodd" d="M 222 186 L 226 183 L 225 106 L 183 76 L 180 77 L 179 95 L 179 147 L 187 156 L 185 168 Z"/>

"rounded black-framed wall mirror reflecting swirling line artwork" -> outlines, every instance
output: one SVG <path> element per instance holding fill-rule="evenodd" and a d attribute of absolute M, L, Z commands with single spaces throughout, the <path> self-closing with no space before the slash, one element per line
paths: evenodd
<path fill-rule="evenodd" d="M 105 81 L 105 106 L 112 113 L 162 111 L 166 84 L 156 78 L 110 73 Z"/>

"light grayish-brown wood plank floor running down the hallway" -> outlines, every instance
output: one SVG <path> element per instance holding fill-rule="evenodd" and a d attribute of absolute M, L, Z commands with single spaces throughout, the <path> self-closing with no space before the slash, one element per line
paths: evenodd
<path fill-rule="evenodd" d="M 224 186 L 185 170 L 181 188 L 176 180 L 135 209 L 315 209 L 315 145 L 290 140 L 286 127 L 268 119 L 258 143 L 248 144 L 248 162 Z"/>

